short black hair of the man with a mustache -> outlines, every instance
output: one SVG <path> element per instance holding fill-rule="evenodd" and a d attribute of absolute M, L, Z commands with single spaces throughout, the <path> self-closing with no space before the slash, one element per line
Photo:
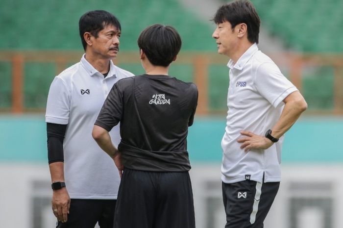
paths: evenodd
<path fill-rule="evenodd" d="M 122 30 L 119 20 L 111 13 L 105 10 L 93 10 L 83 14 L 78 22 L 80 38 L 83 49 L 86 51 L 87 43 L 83 38 L 85 32 L 90 32 L 95 38 L 98 37 L 101 31 L 107 25 L 114 25 L 118 31 Z"/>

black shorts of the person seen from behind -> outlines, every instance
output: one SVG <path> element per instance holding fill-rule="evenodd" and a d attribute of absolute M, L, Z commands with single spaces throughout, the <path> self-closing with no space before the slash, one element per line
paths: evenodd
<path fill-rule="evenodd" d="M 189 173 L 125 169 L 114 224 L 115 228 L 195 228 Z"/>

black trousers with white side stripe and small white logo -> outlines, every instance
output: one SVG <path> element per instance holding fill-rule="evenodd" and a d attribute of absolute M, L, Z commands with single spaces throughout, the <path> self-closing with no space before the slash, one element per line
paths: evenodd
<path fill-rule="evenodd" d="M 280 182 L 259 183 L 253 180 L 222 182 L 225 228 L 263 228 L 279 185 Z"/>

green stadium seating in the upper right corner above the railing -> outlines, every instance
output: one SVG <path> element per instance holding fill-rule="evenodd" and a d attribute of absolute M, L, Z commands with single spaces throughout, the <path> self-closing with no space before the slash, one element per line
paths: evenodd
<path fill-rule="evenodd" d="M 343 52 L 342 0 L 253 0 L 262 25 L 286 47 L 305 52 Z"/>

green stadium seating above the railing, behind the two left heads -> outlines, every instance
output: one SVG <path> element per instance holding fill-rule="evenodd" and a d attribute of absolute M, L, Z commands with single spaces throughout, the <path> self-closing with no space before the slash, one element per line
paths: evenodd
<path fill-rule="evenodd" d="M 209 22 L 200 21 L 178 0 L 3 0 L 0 25 L 6 36 L 0 50 L 82 50 L 78 20 L 83 13 L 94 9 L 108 10 L 120 19 L 124 51 L 137 50 L 139 33 L 156 23 L 176 27 L 184 51 L 215 49 Z"/>

